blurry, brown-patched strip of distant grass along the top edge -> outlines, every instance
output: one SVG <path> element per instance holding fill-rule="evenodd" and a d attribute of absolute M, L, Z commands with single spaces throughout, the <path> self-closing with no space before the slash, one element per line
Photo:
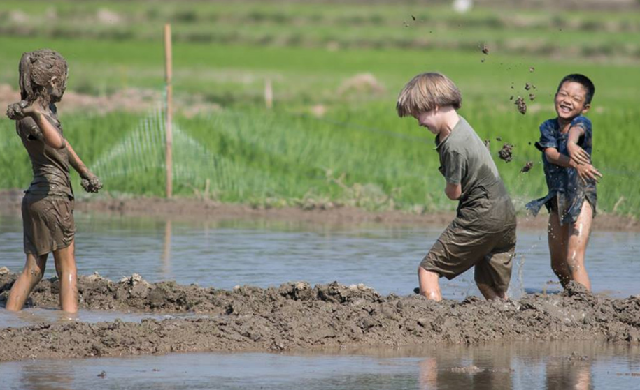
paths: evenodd
<path fill-rule="evenodd" d="M 16 16 L 15 10 L 23 14 Z M 555 10 L 550 14 L 544 10 L 479 6 L 460 15 L 448 3 L 425 7 L 412 1 L 367 6 L 334 2 L 327 6 L 322 1 L 105 4 L 9 0 L 0 5 L 0 21 L 4 36 L 154 40 L 162 24 L 171 22 L 178 42 L 297 47 L 337 43 L 350 48 L 460 47 L 477 51 L 482 40 L 495 50 L 511 54 L 523 51 L 579 57 L 589 53 L 640 58 L 640 46 L 634 39 L 640 32 L 640 17 L 634 12 Z"/>

